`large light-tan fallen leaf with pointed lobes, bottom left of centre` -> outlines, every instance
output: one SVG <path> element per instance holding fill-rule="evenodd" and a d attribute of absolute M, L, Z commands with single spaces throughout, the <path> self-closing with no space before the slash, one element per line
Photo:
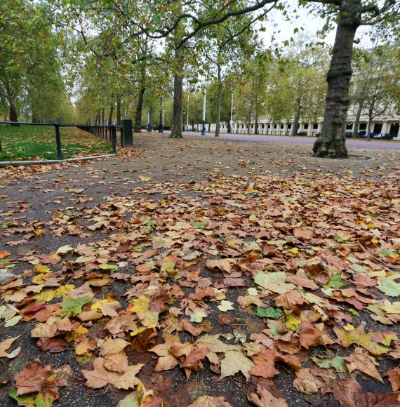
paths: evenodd
<path fill-rule="evenodd" d="M 132 389 L 140 383 L 136 375 L 145 366 L 142 363 L 138 363 L 135 366 L 128 366 L 124 373 L 119 373 L 107 370 L 104 365 L 105 359 L 96 358 L 93 361 L 93 371 L 81 371 L 86 379 L 86 387 L 100 389 L 107 385 L 113 385 L 117 389 Z"/>

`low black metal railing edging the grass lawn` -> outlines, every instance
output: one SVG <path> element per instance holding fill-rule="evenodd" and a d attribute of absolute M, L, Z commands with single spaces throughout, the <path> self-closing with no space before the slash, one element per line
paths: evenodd
<path fill-rule="evenodd" d="M 121 145 L 123 140 L 122 126 L 98 126 L 98 125 L 84 125 L 84 124 L 60 124 L 60 123 L 30 123 L 27 121 L 0 121 L 0 124 L 8 124 L 10 126 L 53 126 L 55 130 L 55 147 L 57 149 L 57 159 L 62 160 L 62 143 L 60 135 L 60 127 L 74 127 L 82 131 L 91 133 L 104 140 L 109 140 L 112 143 L 112 153 L 116 154 L 116 129 L 121 129 Z M 0 140 L 0 151 L 2 151 Z"/>

